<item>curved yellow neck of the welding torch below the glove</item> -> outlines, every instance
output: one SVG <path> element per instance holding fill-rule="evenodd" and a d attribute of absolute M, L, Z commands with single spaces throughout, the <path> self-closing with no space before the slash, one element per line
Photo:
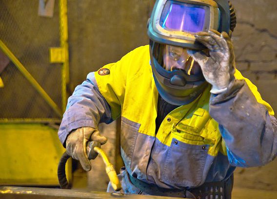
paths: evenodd
<path fill-rule="evenodd" d="M 117 176 L 116 169 L 114 168 L 114 165 L 110 162 L 106 152 L 103 149 L 101 149 L 97 146 L 95 146 L 93 148 L 93 150 L 95 152 L 97 152 L 102 157 L 102 159 L 103 159 L 103 161 L 106 165 L 106 173 L 109 176 L 109 179 L 111 181 L 111 184 L 112 184 L 114 190 L 115 191 L 121 190 L 121 183 L 120 183 L 119 178 Z"/>

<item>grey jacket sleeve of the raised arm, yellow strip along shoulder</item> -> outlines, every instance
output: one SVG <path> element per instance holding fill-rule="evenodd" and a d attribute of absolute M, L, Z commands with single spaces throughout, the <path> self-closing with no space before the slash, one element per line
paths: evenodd
<path fill-rule="evenodd" d="M 233 166 L 261 166 L 277 154 L 277 120 L 274 111 L 240 72 L 221 94 L 212 94 L 210 115 L 218 122 Z"/>

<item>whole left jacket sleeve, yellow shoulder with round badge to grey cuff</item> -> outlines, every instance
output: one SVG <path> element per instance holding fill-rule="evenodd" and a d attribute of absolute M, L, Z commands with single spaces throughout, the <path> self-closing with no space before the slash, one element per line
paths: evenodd
<path fill-rule="evenodd" d="M 63 145 L 72 130 L 98 128 L 99 123 L 108 124 L 120 116 L 132 52 L 116 63 L 105 65 L 98 72 L 89 73 L 87 80 L 76 87 L 68 98 L 59 127 L 59 140 Z M 101 73 L 103 70 L 106 72 Z"/>

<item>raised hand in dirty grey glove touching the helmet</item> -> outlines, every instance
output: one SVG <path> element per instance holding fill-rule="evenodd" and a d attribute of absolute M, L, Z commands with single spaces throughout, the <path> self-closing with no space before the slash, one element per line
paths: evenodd
<path fill-rule="evenodd" d="M 211 92 L 219 94 L 227 90 L 234 79 L 235 54 L 231 38 L 227 33 L 217 31 L 199 32 L 196 39 L 206 46 L 209 53 L 188 50 L 195 61 L 200 65 L 207 82 L 212 85 Z"/>

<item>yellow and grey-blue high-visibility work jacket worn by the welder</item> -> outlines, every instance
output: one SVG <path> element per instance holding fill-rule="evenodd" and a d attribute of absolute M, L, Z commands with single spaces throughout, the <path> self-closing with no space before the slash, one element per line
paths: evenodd
<path fill-rule="evenodd" d="M 158 90 L 149 46 L 91 72 L 68 99 L 59 129 L 98 127 L 121 116 L 121 156 L 130 175 L 164 188 L 223 181 L 236 166 L 260 166 L 277 154 L 276 119 L 257 88 L 236 71 L 222 94 L 207 87 L 192 103 L 171 111 L 157 134 Z"/>

